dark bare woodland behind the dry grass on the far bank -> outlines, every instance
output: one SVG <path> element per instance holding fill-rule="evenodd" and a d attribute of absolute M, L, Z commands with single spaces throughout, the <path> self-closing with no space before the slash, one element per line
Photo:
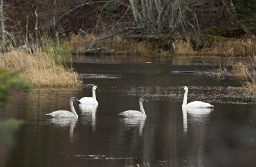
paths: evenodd
<path fill-rule="evenodd" d="M 256 39 L 253 0 L 2 0 L 1 3 L 2 50 L 5 43 L 8 46 L 6 39 L 17 47 L 25 45 L 25 41 L 26 45 L 35 46 L 42 44 L 45 36 L 54 39 L 58 47 L 61 39 L 69 39 L 69 47 L 76 53 L 93 48 L 127 50 L 123 46 L 115 48 L 114 44 L 111 48 L 113 36 L 120 37 L 119 41 L 136 39 L 140 44 L 154 44 L 162 50 L 178 49 L 175 46 L 180 40 L 189 41 L 194 49 L 200 50 L 227 38 Z M 104 43 L 105 39 L 109 41 Z M 82 47 L 78 48 L 75 41 Z"/>

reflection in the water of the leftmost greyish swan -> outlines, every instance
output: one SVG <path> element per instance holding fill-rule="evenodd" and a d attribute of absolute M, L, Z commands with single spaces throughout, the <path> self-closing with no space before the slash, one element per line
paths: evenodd
<path fill-rule="evenodd" d="M 76 126 L 78 118 L 49 118 L 48 121 L 50 124 L 58 128 L 70 127 L 69 128 L 69 139 L 73 140 L 73 131 Z"/>

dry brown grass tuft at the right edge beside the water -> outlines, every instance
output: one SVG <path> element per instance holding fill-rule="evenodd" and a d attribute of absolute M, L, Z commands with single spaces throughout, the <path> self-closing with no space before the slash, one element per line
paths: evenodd
<path fill-rule="evenodd" d="M 242 93 L 246 96 L 256 96 L 256 56 L 253 55 L 252 65 L 237 63 L 232 72 L 236 77 L 244 80 Z"/>

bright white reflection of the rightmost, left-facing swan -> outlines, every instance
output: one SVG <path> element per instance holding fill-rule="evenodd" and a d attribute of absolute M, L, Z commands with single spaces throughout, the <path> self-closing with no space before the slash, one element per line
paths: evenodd
<path fill-rule="evenodd" d="M 206 123 L 209 120 L 210 113 L 213 111 L 214 111 L 214 108 L 182 107 L 184 134 L 187 134 L 187 119 L 191 123 L 197 123 L 197 122 Z"/>

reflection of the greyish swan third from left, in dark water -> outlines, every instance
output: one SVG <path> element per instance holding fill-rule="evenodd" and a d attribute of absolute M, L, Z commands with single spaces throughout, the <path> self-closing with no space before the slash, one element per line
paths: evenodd
<path fill-rule="evenodd" d="M 142 135 L 146 118 L 119 118 L 119 122 L 126 127 L 139 127 L 139 135 Z"/>

